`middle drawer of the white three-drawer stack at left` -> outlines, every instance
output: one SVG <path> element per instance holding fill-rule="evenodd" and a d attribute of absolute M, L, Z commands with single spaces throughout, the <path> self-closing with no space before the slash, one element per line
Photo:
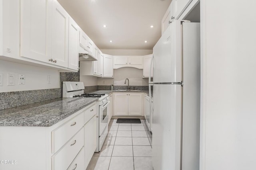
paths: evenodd
<path fill-rule="evenodd" d="M 66 170 L 83 146 L 84 128 L 52 156 L 52 170 Z"/>

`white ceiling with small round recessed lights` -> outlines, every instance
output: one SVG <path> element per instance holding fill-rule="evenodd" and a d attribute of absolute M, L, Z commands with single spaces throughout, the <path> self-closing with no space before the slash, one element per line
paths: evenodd
<path fill-rule="evenodd" d="M 58 0 L 99 49 L 153 49 L 171 1 Z"/>

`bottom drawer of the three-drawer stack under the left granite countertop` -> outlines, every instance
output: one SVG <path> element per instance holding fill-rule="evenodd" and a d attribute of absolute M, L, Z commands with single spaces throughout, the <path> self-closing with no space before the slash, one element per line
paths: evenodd
<path fill-rule="evenodd" d="M 68 167 L 68 170 L 85 170 L 84 147 L 82 147 L 72 164 Z"/>

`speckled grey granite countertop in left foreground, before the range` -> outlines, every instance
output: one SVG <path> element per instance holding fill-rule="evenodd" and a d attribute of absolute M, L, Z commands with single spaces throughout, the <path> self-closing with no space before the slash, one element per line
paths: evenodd
<path fill-rule="evenodd" d="M 0 110 L 0 126 L 49 127 L 98 98 L 57 98 L 34 104 Z"/>

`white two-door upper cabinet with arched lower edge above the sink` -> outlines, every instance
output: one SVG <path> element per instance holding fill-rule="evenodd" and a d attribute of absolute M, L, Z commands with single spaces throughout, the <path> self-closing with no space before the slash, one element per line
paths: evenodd
<path fill-rule="evenodd" d="M 142 56 L 114 56 L 113 68 L 121 67 L 135 67 L 143 68 L 143 57 Z"/>

